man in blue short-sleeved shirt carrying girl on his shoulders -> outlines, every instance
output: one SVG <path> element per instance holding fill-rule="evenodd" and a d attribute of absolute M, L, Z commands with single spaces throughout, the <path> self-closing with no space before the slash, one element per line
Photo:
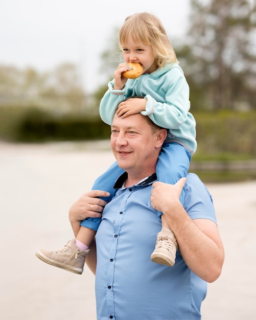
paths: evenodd
<path fill-rule="evenodd" d="M 97 317 L 116 320 L 200 319 L 206 282 L 215 281 L 224 260 L 212 198 L 195 174 L 176 185 L 157 182 L 155 166 L 166 138 L 140 113 L 114 116 L 111 149 L 126 173 L 106 202 L 104 191 L 83 195 L 69 211 L 74 233 L 84 218 L 100 217 L 95 247 L 86 263 L 96 272 Z M 185 185 L 184 207 L 179 201 Z M 93 210 L 93 211 L 92 211 Z M 178 251 L 173 267 L 150 260 L 164 214 Z"/>

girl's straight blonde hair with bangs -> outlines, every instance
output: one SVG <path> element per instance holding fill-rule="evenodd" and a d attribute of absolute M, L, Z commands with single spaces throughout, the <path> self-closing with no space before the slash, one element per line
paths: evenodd
<path fill-rule="evenodd" d="M 135 43 L 152 46 L 157 67 L 162 67 L 170 62 L 178 62 L 161 21 L 153 14 L 142 12 L 128 16 L 119 32 L 119 47 L 121 50 L 129 37 Z"/>

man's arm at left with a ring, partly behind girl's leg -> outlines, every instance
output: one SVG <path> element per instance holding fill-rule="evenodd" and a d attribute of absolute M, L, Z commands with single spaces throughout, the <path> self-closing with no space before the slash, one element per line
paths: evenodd
<path fill-rule="evenodd" d="M 82 195 L 69 210 L 69 220 L 73 227 L 75 237 L 80 229 L 80 222 L 86 218 L 101 218 L 103 209 L 107 204 L 106 201 L 99 197 L 108 197 L 109 193 L 100 190 L 92 190 Z M 89 269 L 95 274 L 96 272 L 96 243 L 92 241 L 90 252 L 85 259 Z"/>

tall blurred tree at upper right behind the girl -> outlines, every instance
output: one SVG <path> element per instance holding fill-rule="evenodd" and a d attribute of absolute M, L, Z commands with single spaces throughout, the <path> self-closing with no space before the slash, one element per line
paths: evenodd
<path fill-rule="evenodd" d="M 256 108 L 256 5 L 191 1 L 186 45 L 176 49 L 198 109 Z"/>

